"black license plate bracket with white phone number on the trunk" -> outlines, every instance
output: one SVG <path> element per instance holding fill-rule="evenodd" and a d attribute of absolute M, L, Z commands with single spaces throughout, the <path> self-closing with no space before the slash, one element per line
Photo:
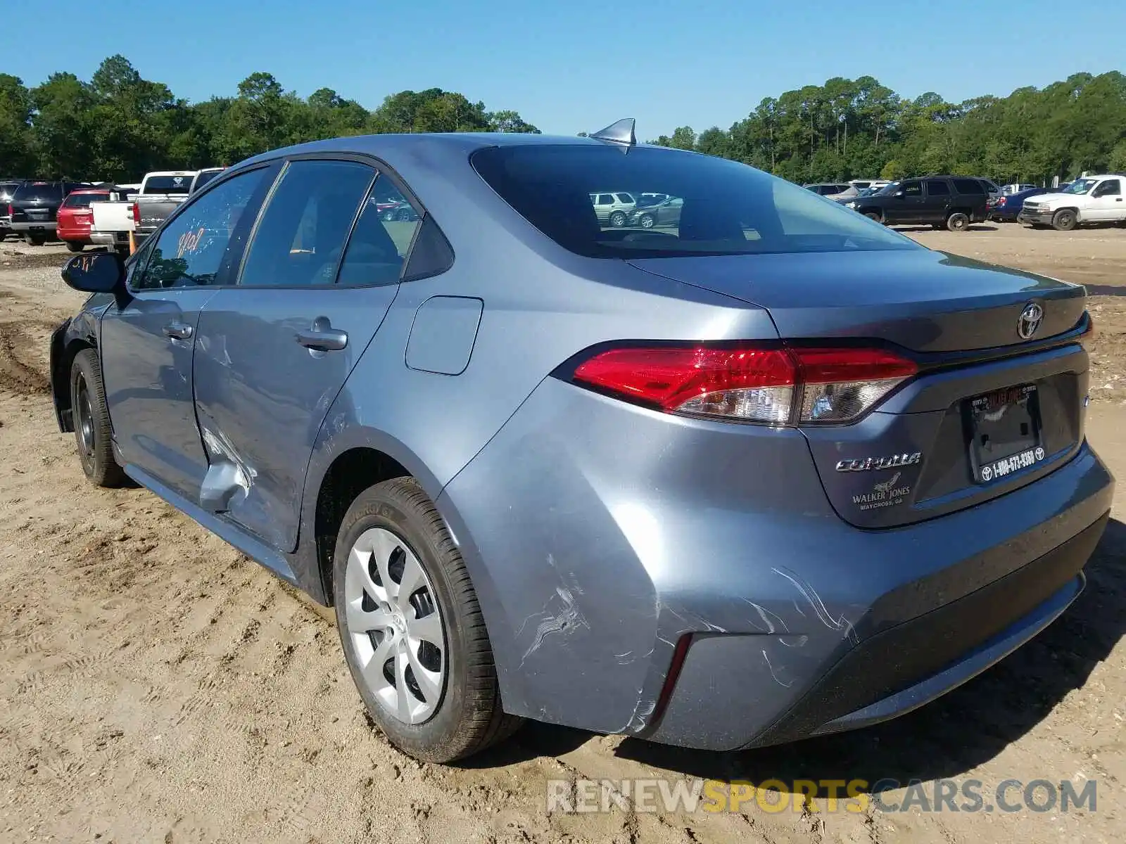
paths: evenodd
<path fill-rule="evenodd" d="M 993 390 L 965 403 L 974 482 L 992 484 L 1044 460 L 1035 384 Z"/>

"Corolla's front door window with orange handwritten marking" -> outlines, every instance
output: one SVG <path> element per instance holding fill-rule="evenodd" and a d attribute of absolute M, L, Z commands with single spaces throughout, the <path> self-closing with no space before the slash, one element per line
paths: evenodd
<path fill-rule="evenodd" d="M 265 173 L 265 169 L 240 173 L 169 221 L 157 235 L 157 245 L 135 288 L 215 284 L 231 235 Z"/>

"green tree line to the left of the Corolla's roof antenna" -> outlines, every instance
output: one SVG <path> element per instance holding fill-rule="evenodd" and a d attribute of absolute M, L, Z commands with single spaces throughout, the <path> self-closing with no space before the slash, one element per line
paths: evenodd
<path fill-rule="evenodd" d="M 84 82 L 54 73 L 27 88 L 0 73 L 0 177 L 133 181 L 150 170 L 230 165 L 278 146 L 386 132 L 538 132 L 517 111 L 464 95 L 400 91 L 368 110 L 330 88 L 301 98 L 269 73 L 236 97 L 189 104 L 122 55 Z"/>

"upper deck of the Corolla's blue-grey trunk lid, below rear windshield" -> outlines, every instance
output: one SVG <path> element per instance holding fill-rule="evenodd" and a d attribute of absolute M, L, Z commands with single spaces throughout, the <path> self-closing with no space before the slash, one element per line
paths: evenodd
<path fill-rule="evenodd" d="M 787 339 L 868 338 L 923 352 L 1020 341 L 1029 302 L 1040 336 L 1083 316 L 1081 285 L 928 249 L 646 258 L 635 267 L 766 308 Z"/>

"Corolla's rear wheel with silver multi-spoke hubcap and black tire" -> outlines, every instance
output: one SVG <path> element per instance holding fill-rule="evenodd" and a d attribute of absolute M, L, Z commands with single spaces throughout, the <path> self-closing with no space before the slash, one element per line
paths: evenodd
<path fill-rule="evenodd" d="M 406 577 L 411 594 L 403 596 Z M 368 715 L 395 747 L 423 762 L 453 762 L 524 722 L 501 708 L 465 562 L 414 478 L 370 486 L 348 508 L 332 591 L 348 670 Z"/>

